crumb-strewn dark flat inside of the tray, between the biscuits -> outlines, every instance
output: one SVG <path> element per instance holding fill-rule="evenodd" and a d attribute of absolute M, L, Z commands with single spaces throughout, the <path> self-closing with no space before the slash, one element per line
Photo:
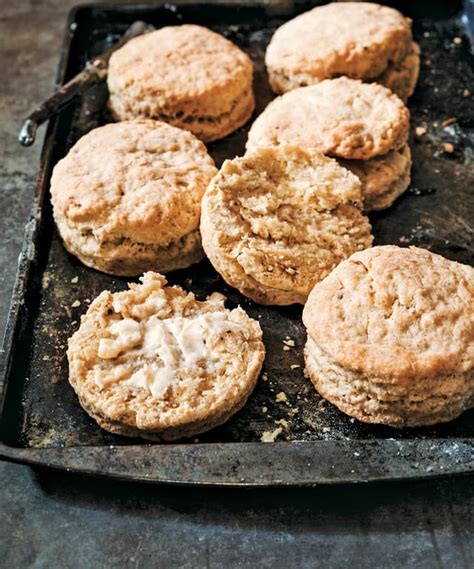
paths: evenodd
<path fill-rule="evenodd" d="M 102 52 L 136 19 L 155 26 L 193 22 L 207 25 L 238 44 L 255 64 L 257 113 L 273 98 L 263 64 L 265 47 L 275 28 L 295 12 L 272 15 L 259 7 L 86 7 L 76 12 L 66 79 Z M 426 247 L 463 263 L 473 261 L 472 221 L 472 58 L 459 16 L 418 19 L 414 34 L 422 49 L 419 86 L 410 100 L 413 136 L 413 180 L 410 190 L 389 210 L 371 215 L 375 244 Z M 462 38 L 453 42 L 453 38 Z M 41 192 L 48 190 L 50 167 L 91 128 L 110 120 L 104 110 L 105 87 L 98 87 L 65 111 L 56 124 L 51 158 L 44 165 Z M 415 127 L 423 131 L 416 135 Z M 426 132 L 425 132 L 426 130 Z M 209 145 L 220 165 L 242 154 L 248 126 Z M 452 147 L 445 147 L 449 143 Z M 449 150 L 452 152 L 447 152 Z M 48 448 L 143 444 L 107 433 L 81 409 L 67 381 L 67 339 L 81 314 L 102 290 L 123 290 L 130 279 L 113 278 L 83 266 L 62 247 L 51 218 L 49 198 L 42 206 L 42 229 L 33 253 L 35 273 L 24 304 L 25 330 L 16 343 L 2 417 L 2 438 L 12 447 Z M 474 413 L 432 428 L 394 430 L 368 426 L 318 396 L 303 375 L 305 331 L 300 307 L 264 307 L 228 287 L 207 260 L 168 276 L 172 284 L 199 298 L 219 291 L 228 306 L 240 304 L 257 319 L 267 348 L 262 376 L 245 408 L 222 427 L 196 442 L 357 441 L 386 439 L 472 438 Z M 293 345 L 285 345 L 286 340 Z M 287 344 L 293 344 L 287 342 Z"/>

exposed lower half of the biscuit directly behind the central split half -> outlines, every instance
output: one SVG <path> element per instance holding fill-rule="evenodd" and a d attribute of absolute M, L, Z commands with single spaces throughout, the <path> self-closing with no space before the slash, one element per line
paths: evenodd
<path fill-rule="evenodd" d="M 408 144 L 370 160 L 339 159 L 338 162 L 361 181 L 366 211 L 390 207 L 410 185 L 411 152 Z"/>

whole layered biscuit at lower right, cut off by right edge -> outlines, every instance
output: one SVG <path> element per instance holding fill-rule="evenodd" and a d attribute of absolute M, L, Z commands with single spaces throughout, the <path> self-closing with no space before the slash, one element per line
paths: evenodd
<path fill-rule="evenodd" d="M 368 423 L 415 427 L 474 405 L 474 269 L 392 245 L 352 255 L 303 311 L 319 393 Z"/>

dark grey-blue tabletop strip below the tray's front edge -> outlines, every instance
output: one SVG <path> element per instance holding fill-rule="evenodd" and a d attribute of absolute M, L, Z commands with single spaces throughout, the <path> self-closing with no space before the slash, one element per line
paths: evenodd
<path fill-rule="evenodd" d="M 474 485 L 171 488 L 9 465 L 12 569 L 472 569 Z"/>

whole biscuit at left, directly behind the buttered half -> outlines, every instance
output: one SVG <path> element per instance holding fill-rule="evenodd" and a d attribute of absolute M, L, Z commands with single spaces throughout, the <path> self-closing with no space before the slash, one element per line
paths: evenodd
<path fill-rule="evenodd" d="M 54 218 L 66 249 L 113 275 L 185 268 L 202 256 L 201 198 L 216 174 L 188 131 L 152 120 L 83 136 L 54 168 Z"/>

